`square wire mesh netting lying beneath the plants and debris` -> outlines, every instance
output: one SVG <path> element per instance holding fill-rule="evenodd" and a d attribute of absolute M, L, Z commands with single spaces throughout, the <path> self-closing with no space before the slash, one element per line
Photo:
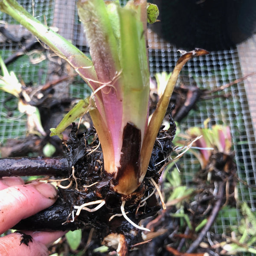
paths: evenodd
<path fill-rule="evenodd" d="M 30 13 L 34 12 L 34 16 L 41 22 L 52 25 L 55 20 L 53 26 L 57 26 L 64 37 L 71 39 L 82 51 L 89 52 L 82 34 L 81 23 L 77 17 L 75 1 L 34 0 L 34 8 L 32 8 L 32 1 L 30 0 L 18 2 Z M 17 35 L 26 34 L 26 31 L 24 32 L 24 29 L 9 16 L 0 13 L 0 20 L 8 23 L 8 26 L 15 26 L 15 30 L 13 28 L 12 32 L 16 31 Z M 252 41 L 253 39 L 249 40 Z M 20 42 L 6 41 L 0 38 L 0 54 L 3 59 L 21 47 Z M 161 39 L 150 29 L 148 47 L 151 76 L 163 71 L 172 72 L 180 57 L 178 49 Z M 255 42 L 253 47 L 256 47 Z M 252 49 L 244 49 L 244 51 L 250 52 Z M 8 69 L 14 70 L 18 78 L 22 79 L 26 85 L 45 84 L 49 73 L 49 59 L 45 58 L 38 64 L 32 64 L 31 59 L 31 55 L 25 54 L 10 63 Z M 213 91 L 247 75 L 243 72 L 242 65 L 253 67 L 254 63 L 241 63 L 239 48 L 214 51 L 210 52 L 209 55 L 189 61 L 181 71 L 179 79 L 186 81 L 187 84 L 196 83 L 202 90 Z M 230 126 L 237 176 L 241 180 L 238 183 L 239 200 L 248 202 L 251 209 L 256 211 L 255 123 L 253 123 L 244 83 L 245 81 L 240 81 L 213 93 L 213 97 L 210 99 L 200 100 L 197 102 L 196 108 L 190 111 L 188 116 L 177 126 L 181 132 L 184 132 L 192 126 L 204 127 L 206 119 L 209 119 L 210 126 L 214 124 Z M 72 81 L 67 90 L 71 98 L 84 98 L 90 93 L 79 78 Z M 5 143 L 8 138 L 25 137 L 26 116 L 17 110 L 17 100 L 2 91 L 0 92 L 0 113 L 1 143 Z M 194 162 L 195 158 L 189 153 L 185 154 L 179 161 L 181 175 L 186 186 L 193 186 L 193 175 L 198 172 L 198 165 L 192 164 Z M 246 184 L 242 181 L 245 181 Z M 227 234 L 230 232 L 230 226 L 237 225 L 240 219 L 241 213 L 239 211 L 235 215 L 232 213 L 227 215 L 227 212 L 220 211 L 212 232 L 220 235 L 222 233 Z"/>

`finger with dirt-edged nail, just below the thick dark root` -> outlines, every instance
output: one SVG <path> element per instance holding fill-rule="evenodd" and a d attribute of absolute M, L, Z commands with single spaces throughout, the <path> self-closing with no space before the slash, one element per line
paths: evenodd
<path fill-rule="evenodd" d="M 33 182 L 0 190 L 0 233 L 50 207 L 56 199 L 57 191 L 50 183 Z"/>

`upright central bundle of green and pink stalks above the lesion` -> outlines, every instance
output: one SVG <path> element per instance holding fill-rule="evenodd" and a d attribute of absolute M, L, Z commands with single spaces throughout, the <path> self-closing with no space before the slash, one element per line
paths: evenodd
<path fill-rule="evenodd" d="M 116 162 L 114 172 L 122 154 L 124 127 L 128 122 L 134 124 L 143 138 L 148 122 L 149 71 L 146 31 L 141 21 L 141 8 L 143 6 L 146 13 L 146 1 L 128 3 L 121 8 L 116 1 L 106 4 L 102 0 L 78 1 L 78 13 L 99 86 L 103 87 L 96 93 L 96 105 L 111 135 Z M 98 121 L 93 119 L 93 122 Z M 102 141 L 101 132 L 97 132 Z M 102 149 L 105 154 L 109 146 Z M 107 171 L 113 173 L 113 169 Z"/>

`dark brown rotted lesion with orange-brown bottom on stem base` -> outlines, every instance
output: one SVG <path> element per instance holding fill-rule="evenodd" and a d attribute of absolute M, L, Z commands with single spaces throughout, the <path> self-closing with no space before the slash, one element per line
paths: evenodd
<path fill-rule="evenodd" d="M 134 192 L 139 185 L 141 131 L 128 122 L 122 139 L 120 167 L 113 183 L 117 192 L 127 195 Z"/>

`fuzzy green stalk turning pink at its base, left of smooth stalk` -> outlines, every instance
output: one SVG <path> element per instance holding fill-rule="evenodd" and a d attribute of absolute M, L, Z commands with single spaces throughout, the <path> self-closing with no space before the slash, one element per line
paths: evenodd
<path fill-rule="evenodd" d="M 111 133 L 115 159 L 118 162 L 122 145 L 120 137 L 122 137 L 123 85 L 122 75 L 118 75 L 121 72 L 118 38 L 116 38 L 118 26 L 112 28 L 112 24 L 119 23 L 115 12 L 117 5 L 113 3 L 113 11 L 110 12 L 102 0 L 79 0 L 77 7 L 99 79 L 98 87 L 103 86 L 96 93 L 96 106 Z M 109 171 L 113 172 L 113 170 Z"/>

